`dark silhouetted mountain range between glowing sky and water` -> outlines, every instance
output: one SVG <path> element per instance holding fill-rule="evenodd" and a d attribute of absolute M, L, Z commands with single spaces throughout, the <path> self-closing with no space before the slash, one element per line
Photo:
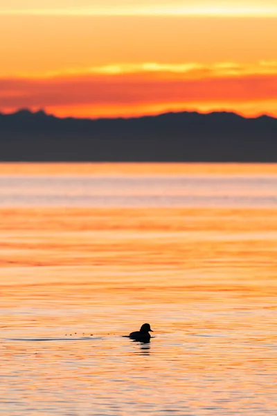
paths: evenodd
<path fill-rule="evenodd" d="M 277 162 L 277 119 L 232 112 L 130 119 L 0 113 L 3 162 Z"/>

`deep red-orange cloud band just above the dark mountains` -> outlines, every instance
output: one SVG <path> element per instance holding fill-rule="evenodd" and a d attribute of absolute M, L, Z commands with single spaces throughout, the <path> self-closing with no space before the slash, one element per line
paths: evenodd
<path fill-rule="evenodd" d="M 275 62 L 260 64 L 256 73 L 235 64 L 213 68 L 144 65 L 143 70 L 105 67 L 44 78 L 0 78 L 0 110 L 28 107 L 57 115 L 117 116 L 192 106 L 196 110 L 236 110 L 238 104 L 246 108 L 247 103 L 255 102 L 257 114 L 277 115 Z M 270 103 L 269 107 L 265 103 Z"/>

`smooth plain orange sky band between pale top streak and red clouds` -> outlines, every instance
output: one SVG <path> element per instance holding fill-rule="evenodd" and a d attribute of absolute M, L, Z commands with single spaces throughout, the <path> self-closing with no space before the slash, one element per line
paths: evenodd
<path fill-rule="evenodd" d="M 277 59 L 277 19 L 0 17 L 0 76 L 94 66 Z"/>

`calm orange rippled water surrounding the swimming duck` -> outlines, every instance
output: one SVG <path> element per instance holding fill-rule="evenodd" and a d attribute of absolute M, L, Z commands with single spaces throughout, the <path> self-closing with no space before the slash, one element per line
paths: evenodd
<path fill-rule="evenodd" d="M 0 415 L 276 416 L 277 166 L 0 164 L 0 207 Z"/>

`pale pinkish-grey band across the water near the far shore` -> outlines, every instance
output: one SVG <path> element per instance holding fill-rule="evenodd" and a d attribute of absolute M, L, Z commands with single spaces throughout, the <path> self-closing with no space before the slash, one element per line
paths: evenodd
<path fill-rule="evenodd" d="M 277 207 L 277 175 L 0 175 L 0 196 L 1 207 Z"/>

